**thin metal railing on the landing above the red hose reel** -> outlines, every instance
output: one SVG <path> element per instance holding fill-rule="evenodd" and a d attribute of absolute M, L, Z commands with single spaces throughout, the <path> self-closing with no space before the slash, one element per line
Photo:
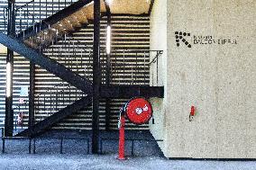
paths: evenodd
<path fill-rule="evenodd" d="M 110 58 L 110 84 L 160 85 L 161 54 L 162 50 L 113 49 Z M 106 65 L 106 52 L 105 49 L 101 49 L 103 77 L 105 77 Z"/>

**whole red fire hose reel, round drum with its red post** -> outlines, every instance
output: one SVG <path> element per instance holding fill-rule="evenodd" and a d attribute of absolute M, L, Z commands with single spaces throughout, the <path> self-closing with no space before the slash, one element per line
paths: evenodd
<path fill-rule="evenodd" d="M 152 106 L 147 100 L 141 97 L 133 98 L 126 103 L 120 110 L 120 118 L 118 122 L 119 128 L 119 155 L 118 159 L 124 160 L 124 124 L 125 115 L 129 121 L 134 124 L 143 124 L 151 120 Z"/>

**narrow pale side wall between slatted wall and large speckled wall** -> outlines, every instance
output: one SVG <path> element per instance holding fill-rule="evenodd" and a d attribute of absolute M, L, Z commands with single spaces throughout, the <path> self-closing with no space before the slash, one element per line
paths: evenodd
<path fill-rule="evenodd" d="M 151 11 L 151 50 L 163 50 L 163 54 L 159 57 L 159 65 L 157 63 L 151 66 L 151 85 L 167 85 L 167 9 L 166 0 L 155 0 Z M 154 53 L 155 54 L 155 53 Z M 155 55 L 151 56 L 151 59 Z M 158 80 L 157 80 L 157 69 Z M 153 74 L 152 74 L 153 73 Z M 165 76 L 163 76 L 165 75 Z M 167 96 L 167 91 L 165 91 Z M 167 97 L 164 99 L 152 98 L 151 103 L 154 108 L 155 124 L 150 121 L 150 129 L 155 139 L 163 139 L 164 135 L 164 107 L 163 103 L 167 103 Z M 163 142 L 159 142 L 160 148 L 163 148 Z"/>

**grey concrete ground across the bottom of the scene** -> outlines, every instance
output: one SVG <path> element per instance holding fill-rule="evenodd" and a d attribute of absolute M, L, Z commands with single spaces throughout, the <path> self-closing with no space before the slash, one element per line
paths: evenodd
<path fill-rule="evenodd" d="M 126 139 L 153 139 L 149 131 L 126 131 Z M 63 153 L 59 154 L 59 138 L 63 141 Z M 126 142 L 125 153 L 128 159 L 117 160 L 117 141 L 105 141 L 103 154 L 87 154 L 87 141 L 79 138 L 91 137 L 91 131 L 50 131 L 36 140 L 36 153 L 28 154 L 29 140 L 5 141 L 5 154 L 0 153 L 1 169 L 157 169 L 157 170 L 256 170 L 256 161 L 178 161 L 167 160 L 162 156 L 156 142 L 137 141 L 134 155 L 131 142 Z M 118 132 L 100 133 L 101 138 L 118 139 Z M 53 139 L 50 139 L 53 138 Z M 89 142 L 91 146 L 91 143 Z M 2 141 L 0 141 L 2 147 Z M 32 145 L 33 149 L 33 145 Z"/>

